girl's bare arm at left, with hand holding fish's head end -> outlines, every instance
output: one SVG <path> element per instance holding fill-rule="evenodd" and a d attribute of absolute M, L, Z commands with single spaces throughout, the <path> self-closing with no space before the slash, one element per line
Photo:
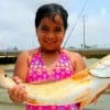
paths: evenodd
<path fill-rule="evenodd" d="M 16 59 L 14 66 L 13 79 L 16 84 L 26 81 L 28 74 L 28 52 L 23 52 Z M 8 90 L 9 97 L 14 102 L 23 102 L 26 100 L 25 88 L 21 86 L 14 86 Z"/>

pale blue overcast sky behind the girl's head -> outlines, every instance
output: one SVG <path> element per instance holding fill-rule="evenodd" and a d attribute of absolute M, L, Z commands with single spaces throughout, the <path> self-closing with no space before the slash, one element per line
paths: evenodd
<path fill-rule="evenodd" d="M 66 47 L 80 47 L 84 43 L 84 15 L 86 45 L 110 46 L 110 0 L 0 0 L 0 50 L 38 46 L 34 29 L 35 12 L 40 6 L 52 1 L 61 3 L 69 14 Z"/>

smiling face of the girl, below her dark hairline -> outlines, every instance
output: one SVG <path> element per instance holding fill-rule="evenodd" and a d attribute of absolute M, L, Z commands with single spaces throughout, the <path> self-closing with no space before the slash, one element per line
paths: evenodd
<path fill-rule="evenodd" d="M 62 18 L 59 15 L 56 15 L 54 20 L 48 16 L 43 18 L 38 28 L 36 29 L 36 35 L 38 37 L 42 50 L 59 50 L 65 35 Z"/>

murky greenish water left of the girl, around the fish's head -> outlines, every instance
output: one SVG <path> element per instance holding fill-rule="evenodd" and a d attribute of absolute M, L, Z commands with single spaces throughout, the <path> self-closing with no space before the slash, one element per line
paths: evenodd
<path fill-rule="evenodd" d="M 4 69 L 9 77 L 12 77 L 14 64 L 0 65 L 0 68 Z M 24 105 L 13 103 L 8 96 L 7 89 L 0 88 L 0 110 L 25 110 L 24 108 Z"/>

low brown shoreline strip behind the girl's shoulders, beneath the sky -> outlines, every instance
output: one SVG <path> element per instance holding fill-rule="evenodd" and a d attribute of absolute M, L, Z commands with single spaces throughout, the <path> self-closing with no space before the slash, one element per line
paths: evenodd
<path fill-rule="evenodd" d="M 96 57 L 101 58 L 110 54 L 110 48 L 67 48 L 70 52 L 80 53 L 87 58 Z M 15 63 L 18 55 L 21 51 L 0 51 L 0 64 Z"/>

